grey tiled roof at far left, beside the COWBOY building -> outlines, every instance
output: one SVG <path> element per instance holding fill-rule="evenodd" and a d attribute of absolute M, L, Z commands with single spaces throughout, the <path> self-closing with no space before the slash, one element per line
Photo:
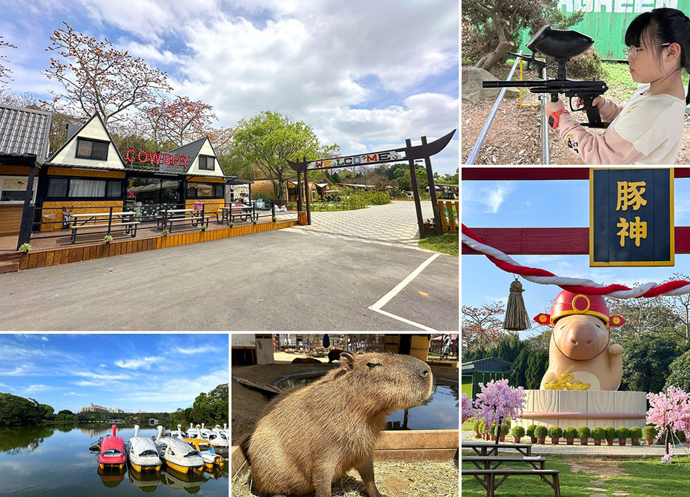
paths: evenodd
<path fill-rule="evenodd" d="M 52 114 L 45 110 L 0 105 L 0 153 L 48 155 Z"/>

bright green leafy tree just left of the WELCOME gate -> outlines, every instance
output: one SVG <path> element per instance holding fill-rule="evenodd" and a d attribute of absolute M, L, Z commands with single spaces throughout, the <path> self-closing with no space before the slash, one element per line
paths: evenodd
<path fill-rule="evenodd" d="M 307 160 L 330 157 L 339 151 L 337 144 L 325 146 L 319 142 L 310 126 L 302 121 L 264 110 L 251 119 L 242 119 L 233 135 L 233 148 L 242 149 L 244 159 L 259 168 L 273 184 L 273 195 L 280 198 L 283 182 L 293 176 L 287 160 Z"/>

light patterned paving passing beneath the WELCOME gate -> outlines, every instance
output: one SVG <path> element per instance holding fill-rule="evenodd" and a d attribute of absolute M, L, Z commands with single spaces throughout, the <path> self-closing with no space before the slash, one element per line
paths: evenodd
<path fill-rule="evenodd" d="M 429 217 L 433 217 L 431 202 L 422 202 L 422 218 Z M 311 213 L 311 226 L 289 229 L 295 233 L 408 248 L 417 248 L 420 238 L 415 203 L 409 201 L 369 206 L 356 211 Z"/>

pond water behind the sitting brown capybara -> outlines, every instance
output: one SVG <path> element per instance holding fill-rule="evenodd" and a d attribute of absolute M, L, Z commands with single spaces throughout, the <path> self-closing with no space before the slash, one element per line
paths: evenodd
<path fill-rule="evenodd" d="M 302 387 L 318 380 L 324 373 L 299 373 L 276 382 L 277 387 Z M 433 391 L 426 401 L 412 409 L 399 409 L 388 414 L 386 429 L 457 429 L 459 395 L 457 382 L 434 379 Z"/>

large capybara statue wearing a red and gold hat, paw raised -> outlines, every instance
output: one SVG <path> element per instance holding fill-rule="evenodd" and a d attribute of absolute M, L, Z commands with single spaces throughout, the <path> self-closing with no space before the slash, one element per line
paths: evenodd
<path fill-rule="evenodd" d="M 551 324 L 549 369 L 540 389 L 618 390 L 623 372 L 623 348 L 611 344 L 609 326 L 625 322 L 612 316 L 601 295 L 562 291 L 551 314 L 534 318 Z"/>

